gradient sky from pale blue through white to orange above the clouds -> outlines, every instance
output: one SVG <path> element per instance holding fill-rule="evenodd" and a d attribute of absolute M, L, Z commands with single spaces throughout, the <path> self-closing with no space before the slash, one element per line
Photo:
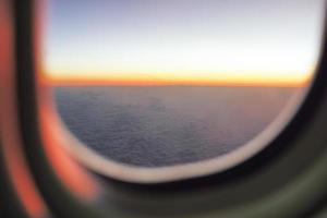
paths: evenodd
<path fill-rule="evenodd" d="M 324 0 L 50 0 L 52 82 L 301 85 Z"/>

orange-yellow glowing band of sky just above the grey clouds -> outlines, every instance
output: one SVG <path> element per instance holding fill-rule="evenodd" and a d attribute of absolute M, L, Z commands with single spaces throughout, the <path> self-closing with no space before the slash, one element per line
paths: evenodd
<path fill-rule="evenodd" d="M 303 87 L 308 85 L 313 73 L 288 74 L 247 74 L 240 76 L 238 74 L 216 74 L 216 76 L 187 76 L 179 77 L 172 74 L 161 77 L 136 76 L 136 75 L 87 75 L 73 76 L 49 75 L 41 76 L 46 85 L 53 86 L 88 86 L 88 85 L 108 85 L 108 86 L 276 86 L 276 87 Z"/>

